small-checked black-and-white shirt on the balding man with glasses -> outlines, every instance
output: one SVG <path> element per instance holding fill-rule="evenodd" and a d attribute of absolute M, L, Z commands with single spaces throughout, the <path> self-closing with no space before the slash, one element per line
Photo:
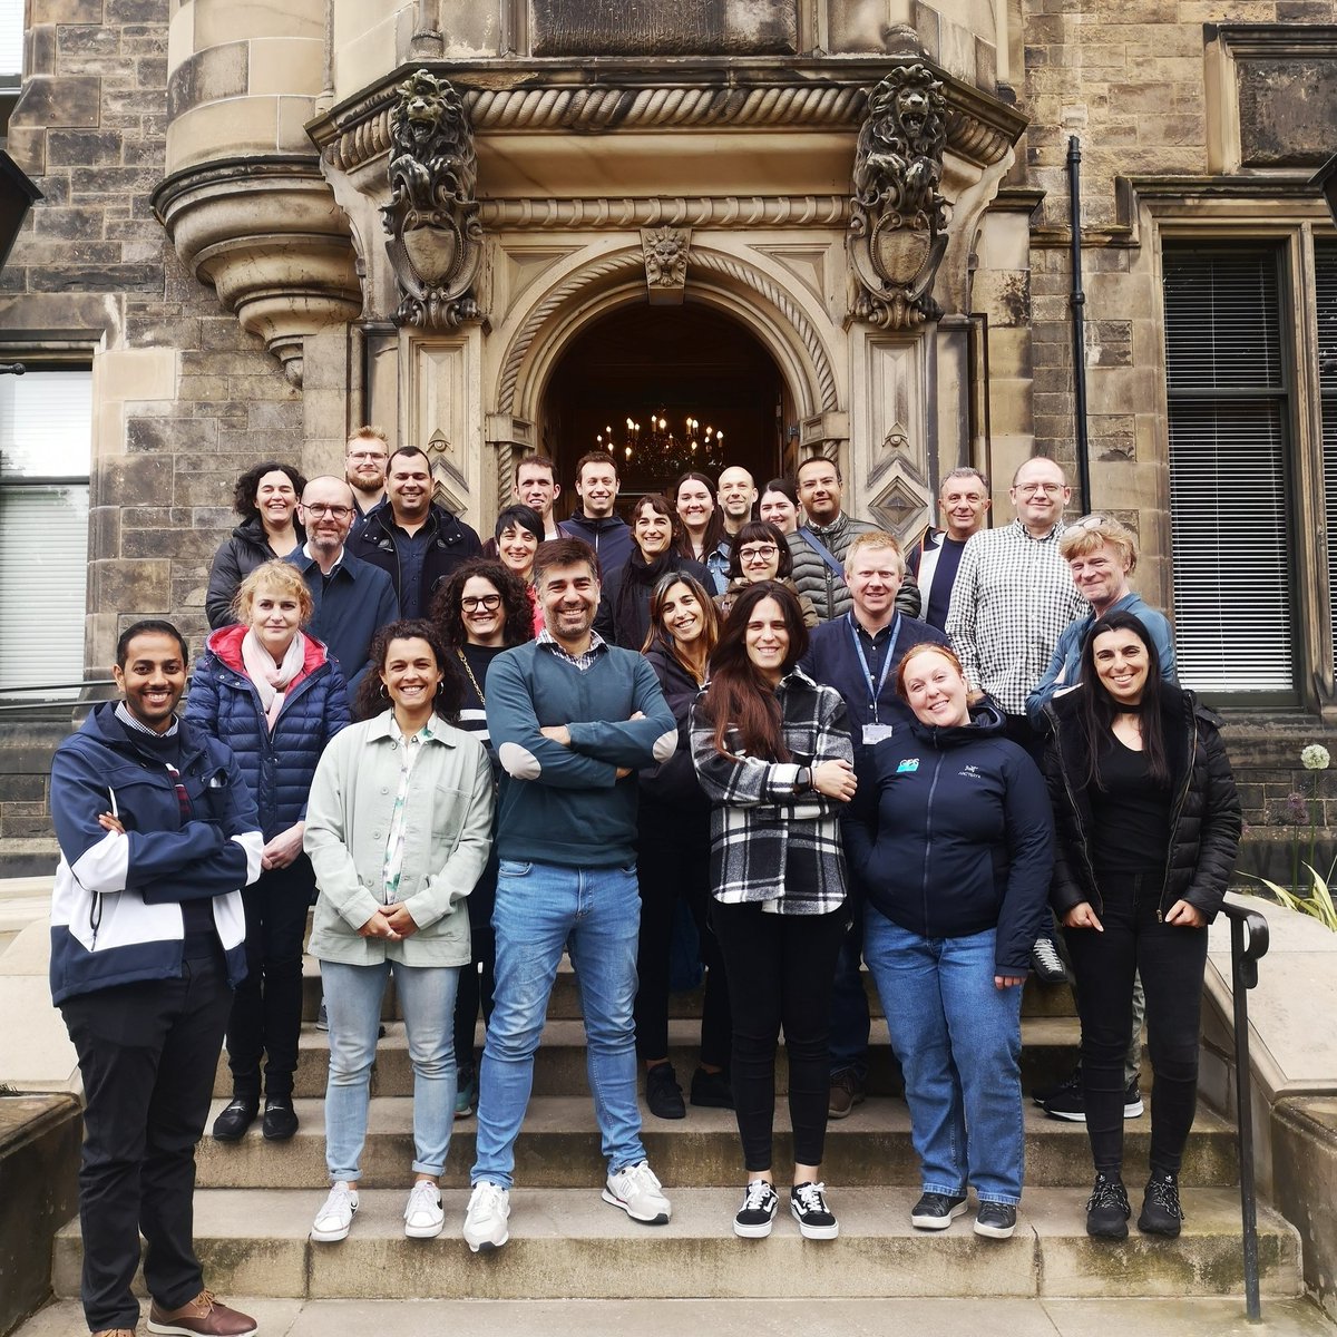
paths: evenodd
<path fill-rule="evenodd" d="M 972 687 L 1025 714 L 1063 628 L 1090 606 L 1059 554 L 1063 525 L 1035 539 L 1020 520 L 972 535 L 952 587 L 947 634 Z"/>

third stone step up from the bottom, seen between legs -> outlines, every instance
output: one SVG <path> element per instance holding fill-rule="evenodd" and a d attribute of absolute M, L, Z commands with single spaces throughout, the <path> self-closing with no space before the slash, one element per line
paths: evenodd
<path fill-rule="evenodd" d="M 376 1070 L 372 1074 L 373 1095 L 408 1095 L 413 1090 L 413 1071 L 409 1066 L 408 1040 L 402 1021 L 386 1021 L 385 1036 L 377 1046 Z M 701 1027 L 691 1017 L 674 1017 L 668 1023 L 668 1060 L 678 1080 L 686 1090 L 699 1054 Z M 1063 1080 L 1071 1071 L 1078 1044 L 1075 1017 L 1036 1016 L 1021 1021 L 1021 1082 L 1047 1086 Z M 483 1048 L 483 1028 L 479 1027 L 475 1048 Z M 329 1035 L 314 1025 L 302 1028 L 294 1076 L 294 1095 L 316 1099 L 325 1095 L 329 1075 Z M 777 1091 L 789 1090 L 789 1064 L 781 1044 L 775 1059 Z M 884 1021 L 873 1021 L 869 1046 L 868 1088 L 874 1095 L 898 1095 L 902 1090 L 900 1068 L 892 1054 Z M 231 1075 L 227 1055 L 218 1060 L 214 1095 L 231 1095 Z M 550 1020 L 543 1029 L 543 1042 L 535 1055 L 533 1094 L 537 1096 L 586 1095 L 584 1024 L 578 1020 Z"/>

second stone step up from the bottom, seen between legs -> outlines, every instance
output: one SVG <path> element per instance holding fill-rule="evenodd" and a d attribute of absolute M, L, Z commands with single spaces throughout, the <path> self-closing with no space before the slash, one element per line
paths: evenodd
<path fill-rule="evenodd" d="M 210 1119 L 223 1107 L 218 1100 Z M 206 1136 L 198 1151 L 202 1189 L 320 1190 L 325 1177 L 325 1110 L 321 1100 L 298 1100 L 301 1128 L 283 1144 L 265 1142 L 259 1122 L 234 1143 Z M 642 1140 L 659 1178 L 670 1186 L 719 1187 L 739 1183 L 738 1127 L 731 1110 L 689 1106 L 686 1119 L 655 1119 L 643 1114 Z M 362 1183 L 370 1189 L 404 1183 L 413 1161 L 413 1102 L 405 1096 L 372 1100 Z M 468 1186 L 475 1159 L 475 1120 L 457 1119 L 447 1158 L 445 1185 Z M 1144 1178 L 1151 1118 L 1128 1119 L 1124 1136 L 1128 1185 Z M 1086 1124 L 1048 1119 L 1034 1104 L 1025 1110 L 1025 1182 L 1035 1187 L 1086 1190 L 1091 1182 L 1091 1151 Z M 793 1159 L 789 1111 L 775 1114 L 775 1163 Z M 588 1096 L 535 1099 L 516 1146 L 516 1182 L 525 1187 L 603 1186 L 604 1163 Z M 902 1100 L 870 1096 L 846 1119 L 833 1120 L 826 1132 L 822 1173 L 842 1189 L 917 1183 L 919 1162 L 910 1146 L 909 1114 Z M 1230 1187 L 1238 1182 L 1234 1130 L 1217 1115 L 1201 1111 L 1189 1144 L 1185 1185 Z"/>

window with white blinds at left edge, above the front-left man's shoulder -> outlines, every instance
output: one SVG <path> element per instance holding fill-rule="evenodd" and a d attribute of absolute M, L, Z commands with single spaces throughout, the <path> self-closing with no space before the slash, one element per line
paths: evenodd
<path fill-rule="evenodd" d="M 0 693 L 83 678 L 92 373 L 0 376 Z"/>

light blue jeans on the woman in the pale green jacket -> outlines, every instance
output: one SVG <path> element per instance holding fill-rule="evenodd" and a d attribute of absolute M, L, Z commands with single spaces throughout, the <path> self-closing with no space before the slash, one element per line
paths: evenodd
<path fill-rule="evenodd" d="M 366 1142 L 376 1035 L 385 983 L 404 1012 L 413 1064 L 413 1173 L 440 1175 L 455 1126 L 455 995 L 457 965 L 345 965 L 321 961 L 330 1019 L 330 1075 L 325 1088 L 325 1163 L 330 1181 L 358 1179 Z"/>

